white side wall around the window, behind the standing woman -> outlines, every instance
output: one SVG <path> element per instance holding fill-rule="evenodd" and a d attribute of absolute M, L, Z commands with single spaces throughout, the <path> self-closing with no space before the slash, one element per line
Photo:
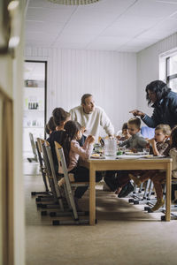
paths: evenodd
<path fill-rule="evenodd" d="M 145 100 L 145 87 L 159 79 L 159 55 L 177 47 L 177 33 L 157 42 L 137 54 L 137 108 L 151 114 Z"/>

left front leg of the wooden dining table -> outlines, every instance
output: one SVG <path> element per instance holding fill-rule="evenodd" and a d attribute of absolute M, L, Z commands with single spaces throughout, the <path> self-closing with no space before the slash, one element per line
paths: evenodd
<path fill-rule="evenodd" d="M 89 167 L 89 224 L 96 223 L 96 170 Z"/>

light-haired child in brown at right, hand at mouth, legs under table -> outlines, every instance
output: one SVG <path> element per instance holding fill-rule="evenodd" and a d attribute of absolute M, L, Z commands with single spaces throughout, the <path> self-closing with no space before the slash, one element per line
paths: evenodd
<path fill-rule="evenodd" d="M 177 178 L 177 126 L 173 128 L 172 133 L 169 125 L 158 125 L 155 129 L 155 138 L 150 140 L 154 155 L 170 155 L 173 158 L 172 176 Z M 170 136 L 170 143 L 167 140 Z M 169 145 L 170 144 L 170 145 Z M 171 149 L 170 149 L 171 148 Z M 169 150 L 170 149 L 170 150 Z M 136 185 L 141 185 L 147 179 L 151 179 L 157 193 L 158 201 L 151 211 L 156 211 L 165 203 L 161 183 L 165 179 L 165 172 L 159 170 L 148 170 L 139 178 L 129 174 L 129 178 L 135 181 Z"/>

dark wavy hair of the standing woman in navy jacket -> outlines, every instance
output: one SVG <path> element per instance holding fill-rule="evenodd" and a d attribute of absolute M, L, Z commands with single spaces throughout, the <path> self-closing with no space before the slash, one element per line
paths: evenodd
<path fill-rule="evenodd" d="M 146 86 L 146 99 L 148 101 L 148 105 L 150 105 L 150 97 L 148 95 L 148 90 L 156 93 L 157 101 L 159 102 L 170 92 L 171 88 L 167 87 L 165 82 L 161 80 L 155 80 L 150 82 L 150 84 Z"/>

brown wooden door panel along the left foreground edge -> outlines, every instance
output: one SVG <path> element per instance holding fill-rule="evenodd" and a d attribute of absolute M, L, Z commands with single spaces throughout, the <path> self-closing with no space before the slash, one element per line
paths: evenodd
<path fill-rule="evenodd" d="M 1 183 L 3 264 L 14 264 L 14 204 L 13 204 L 13 102 L 0 87 L 1 112 Z"/>

